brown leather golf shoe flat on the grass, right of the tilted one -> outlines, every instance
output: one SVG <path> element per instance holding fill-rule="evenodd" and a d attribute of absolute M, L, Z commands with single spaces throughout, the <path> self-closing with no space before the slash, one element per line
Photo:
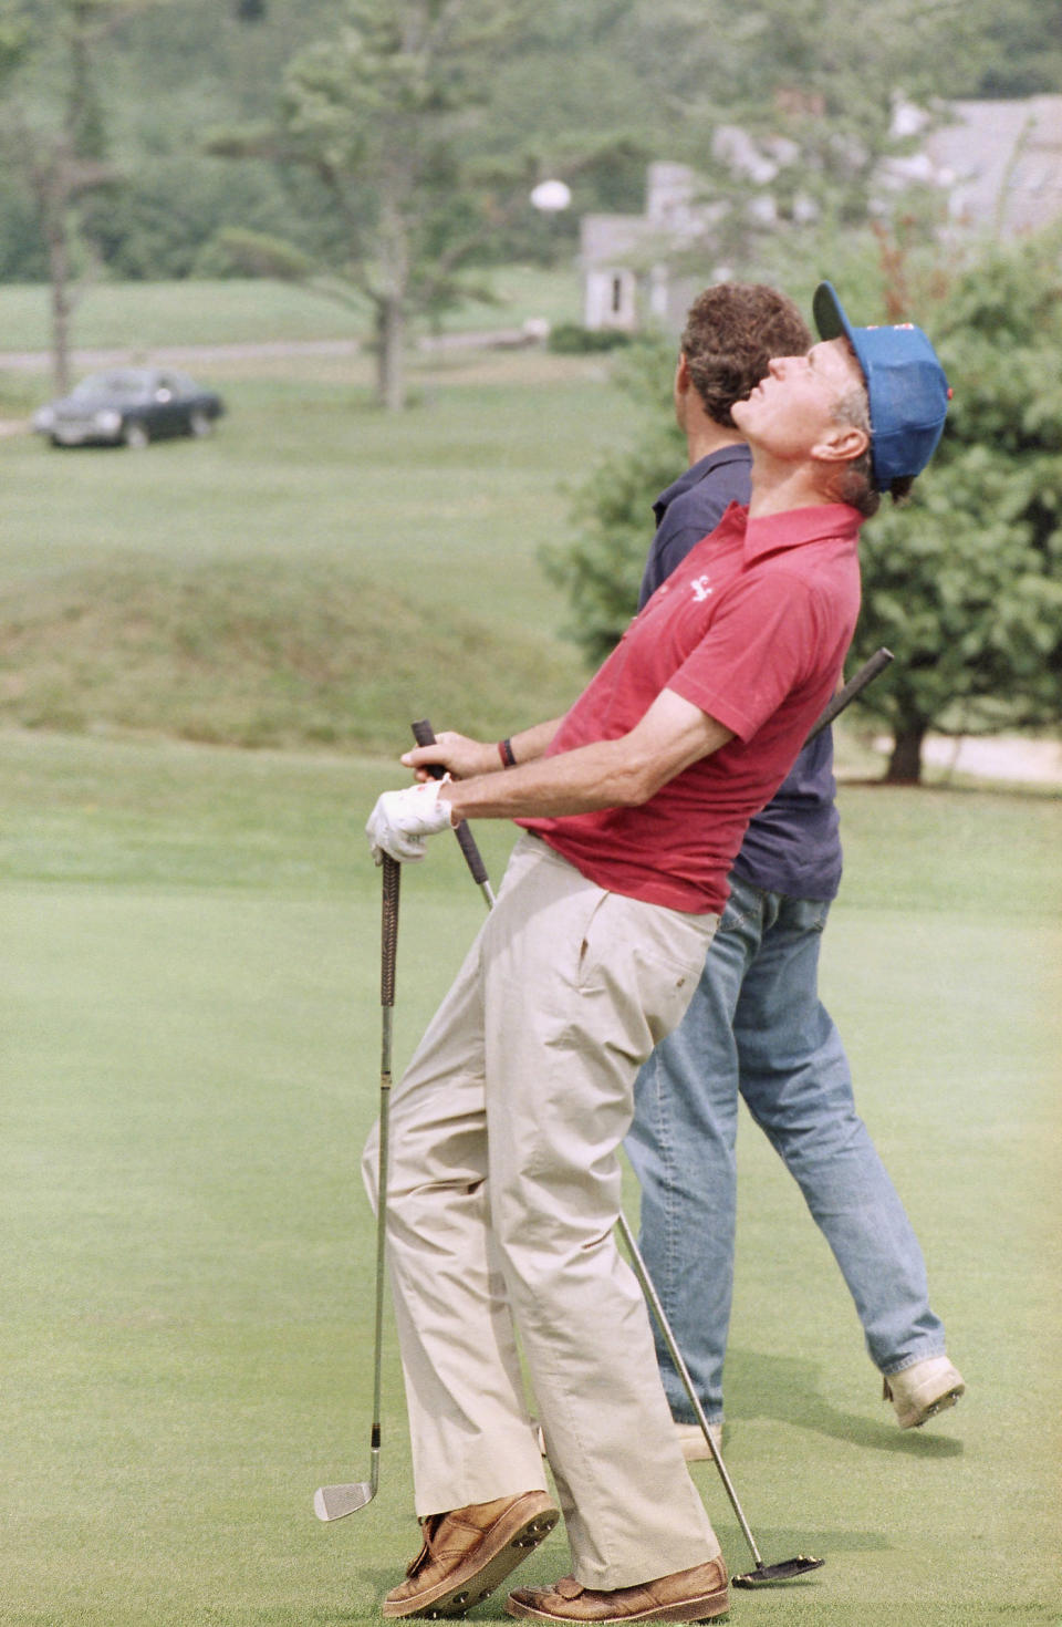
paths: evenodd
<path fill-rule="evenodd" d="M 727 1567 L 722 1559 L 709 1559 L 693 1570 L 612 1593 L 594 1593 L 574 1577 L 561 1577 L 551 1588 L 516 1588 L 506 1609 L 540 1622 L 703 1622 L 730 1609 Z"/>

